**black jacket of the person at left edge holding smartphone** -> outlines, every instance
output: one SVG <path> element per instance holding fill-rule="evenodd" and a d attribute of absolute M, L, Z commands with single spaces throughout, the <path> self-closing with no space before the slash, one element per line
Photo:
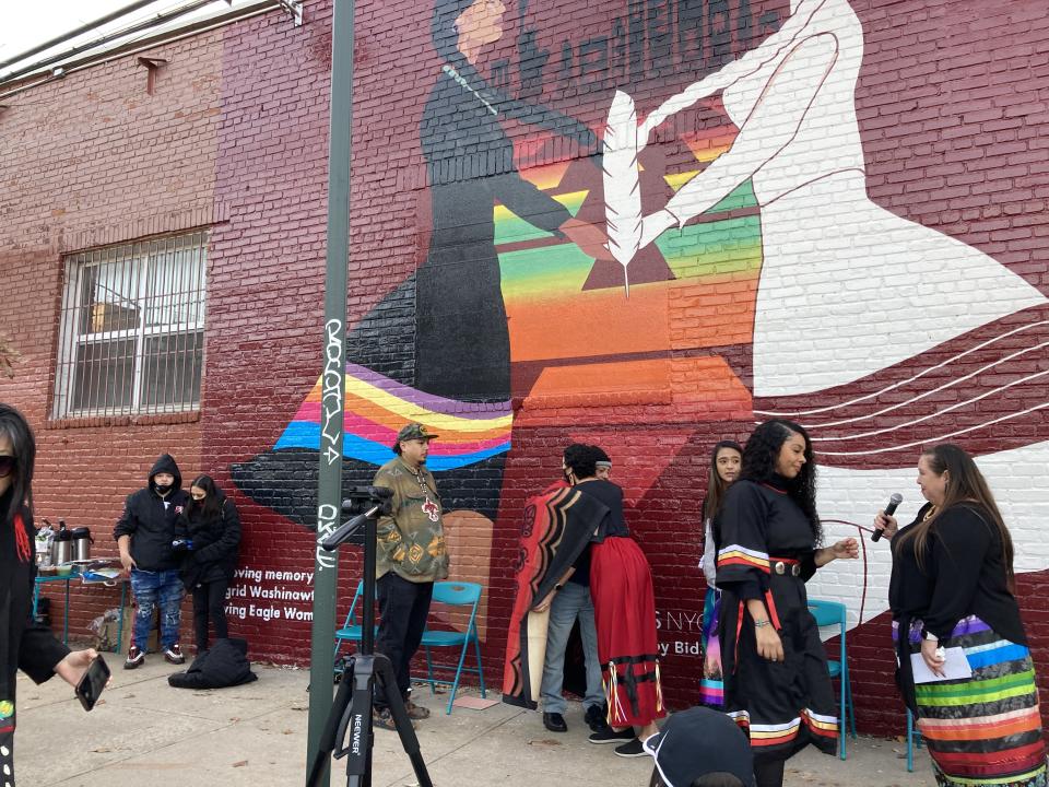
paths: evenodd
<path fill-rule="evenodd" d="M 0 497 L 7 512 L 11 490 Z M 69 648 L 44 626 L 33 623 L 33 582 L 36 576 L 36 544 L 33 519 L 22 513 L 25 539 L 21 554 L 14 527 L 0 514 L 0 736 L 14 727 L 15 673 L 21 669 L 37 683 L 55 674 L 55 667 Z M 11 703 L 10 708 L 3 703 Z"/>

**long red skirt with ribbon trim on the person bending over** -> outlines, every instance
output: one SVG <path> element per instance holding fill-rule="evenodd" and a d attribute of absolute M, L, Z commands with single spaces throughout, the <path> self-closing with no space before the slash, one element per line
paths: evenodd
<path fill-rule="evenodd" d="M 662 718 L 652 572 L 633 539 L 591 547 L 590 595 L 609 724 L 644 727 Z"/>

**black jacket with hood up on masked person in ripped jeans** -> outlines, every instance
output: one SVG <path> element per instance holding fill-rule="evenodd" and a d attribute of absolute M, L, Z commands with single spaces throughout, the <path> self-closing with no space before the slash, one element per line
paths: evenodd
<path fill-rule="evenodd" d="M 167 497 L 156 493 L 153 477 L 168 472 L 175 477 L 174 489 Z M 164 454 L 150 470 L 145 489 L 128 495 L 123 514 L 113 530 L 113 537 L 131 537 L 131 556 L 142 571 L 168 571 L 179 567 L 179 557 L 172 551 L 175 525 L 186 509 L 189 495 L 182 490 L 182 474 L 170 455 Z"/>

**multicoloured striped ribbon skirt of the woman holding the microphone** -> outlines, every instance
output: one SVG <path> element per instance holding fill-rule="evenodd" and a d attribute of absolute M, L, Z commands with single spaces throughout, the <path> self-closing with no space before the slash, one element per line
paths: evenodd
<path fill-rule="evenodd" d="M 916 621 L 911 653 L 921 650 L 920 632 Z M 948 646 L 965 649 L 971 677 L 915 685 L 918 729 L 929 744 L 936 783 L 1046 787 L 1030 651 L 975 615 L 958 623 Z"/>

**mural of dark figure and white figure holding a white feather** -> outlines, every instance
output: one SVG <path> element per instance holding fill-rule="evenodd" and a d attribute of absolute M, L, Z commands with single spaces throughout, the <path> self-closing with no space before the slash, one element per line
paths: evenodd
<path fill-rule="evenodd" d="M 491 549 L 496 522 L 517 526 L 500 508 L 507 474 L 549 480 L 523 469 L 540 449 L 589 439 L 618 461 L 658 441 L 659 461 L 626 470 L 641 513 L 664 484 L 703 485 L 691 456 L 779 415 L 813 436 L 828 539 L 856 535 L 892 492 L 916 510 L 920 447 L 947 439 L 979 457 L 1006 520 L 1037 516 L 1049 501 L 1012 469 L 1049 463 L 1049 304 L 868 196 L 850 3 L 652 5 L 675 9 L 662 99 L 636 68 L 660 56 L 635 58 L 629 12 L 558 60 L 528 3 L 437 0 L 417 119 L 428 239 L 349 338 L 345 483 L 368 483 L 398 428 L 421 421 L 440 435 L 429 465 L 459 517 L 451 552 L 457 538 Z M 517 60 L 485 61 L 511 26 Z M 563 75 L 593 81 L 598 114 L 547 105 Z M 886 301 L 910 317 L 885 319 Z M 320 416 L 318 381 L 275 444 L 233 468 L 304 526 Z M 1049 567 L 1049 544 L 1016 554 L 1019 572 Z M 845 601 L 854 625 L 884 612 L 888 568 L 887 550 L 865 549 L 861 569 L 828 569 L 812 592 Z"/>

